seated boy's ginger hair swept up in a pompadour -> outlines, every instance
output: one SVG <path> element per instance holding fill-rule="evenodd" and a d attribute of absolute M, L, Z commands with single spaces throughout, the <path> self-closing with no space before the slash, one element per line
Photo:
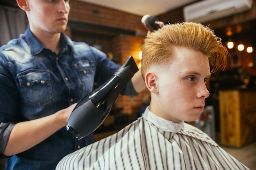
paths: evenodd
<path fill-rule="evenodd" d="M 167 24 L 147 36 L 142 46 L 142 77 L 151 66 L 165 67 L 171 64 L 178 47 L 200 51 L 209 57 L 211 73 L 219 68 L 225 69 L 227 48 L 214 31 L 207 26 L 194 22 Z"/>

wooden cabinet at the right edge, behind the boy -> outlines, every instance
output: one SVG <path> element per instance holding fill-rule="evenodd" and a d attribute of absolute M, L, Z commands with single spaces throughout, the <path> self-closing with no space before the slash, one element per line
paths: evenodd
<path fill-rule="evenodd" d="M 219 91 L 220 142 L 241 147 L 256 141 L 256 90 Z"/>

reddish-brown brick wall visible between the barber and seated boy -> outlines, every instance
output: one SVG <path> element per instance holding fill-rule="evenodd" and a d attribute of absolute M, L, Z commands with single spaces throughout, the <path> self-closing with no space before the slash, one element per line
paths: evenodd
<path fill-rule="evenodd" d="M 70 1 L 70 8 L 69 20 L 136 31 L 136 35 L 115 36 L 112 39 L 112 53 L 120 57 L 120 65 L 124 64 L 130 55 L 139 62 L 138 54 L 147 32 L 141 24 L 141 16 L 76 0 Z M 67 28 L 65 33 L 72 38 L 70 28 Z M 122 107 L 122 113 L 135 115 L 142 105 L 143 96 L 148 93 L 145 90 L 136 96 L 119 95 L 116 107 Z"/>

